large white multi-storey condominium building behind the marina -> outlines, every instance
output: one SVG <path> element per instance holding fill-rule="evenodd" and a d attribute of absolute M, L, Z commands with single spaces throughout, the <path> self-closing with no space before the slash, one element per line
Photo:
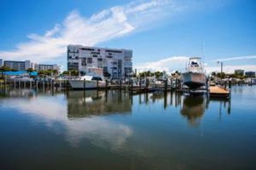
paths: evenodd
<path fill-rule="evenodd" d="M 128 78 L 132 74 L 132 50 L 68 45 L 68 70 L 86 74 L 87 68 L 98 67 L 111 79 Z"/>

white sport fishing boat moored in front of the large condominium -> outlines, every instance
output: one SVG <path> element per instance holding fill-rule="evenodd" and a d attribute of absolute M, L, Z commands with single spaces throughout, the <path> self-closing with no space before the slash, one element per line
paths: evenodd
<path fill-rule="evenodd" d="M 88 68 L 87 74 L 85 76 L 79 77 L 78 79 L 69 80 L 70 86 L 73 89 L 84 89 L 84 80 L 85 80 L 85 89 L 96 89 L 97 81 L 98 87 L 105 87 L 106 82 L 103 78 L 103 70 L 101 68 Z"/>

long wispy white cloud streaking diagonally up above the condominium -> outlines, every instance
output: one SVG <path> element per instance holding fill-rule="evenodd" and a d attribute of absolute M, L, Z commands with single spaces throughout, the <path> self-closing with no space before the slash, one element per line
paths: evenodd
<path fill-rule="evenodd" d="M 0 50 L 0 56 L 12 60 L 26 58 L 35 62 L 65 58 L 68 44 L 93 46 L 147 27 L 165 16 L 184 11 L 187 6 L 174 0 L 137 1 L 111 7 L 90 18 L 72 11 L 61 24 L 55 24 L 44 35 L 31 33 L 27 42 L 18 44 L 13 50 Z"/>

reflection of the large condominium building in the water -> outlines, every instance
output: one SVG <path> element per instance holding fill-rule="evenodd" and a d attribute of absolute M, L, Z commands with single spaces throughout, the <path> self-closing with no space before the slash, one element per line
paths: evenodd
<path fill-rule="evenodd" d="M 69 91 L 67 95 L 68 117 L 92 115 L 131 114 L 129 94 L 113 91 Z"/>

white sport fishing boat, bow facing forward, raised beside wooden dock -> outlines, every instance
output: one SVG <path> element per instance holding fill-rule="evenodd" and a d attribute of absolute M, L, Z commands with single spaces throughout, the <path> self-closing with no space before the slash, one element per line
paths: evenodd
<path fill-rule="evenodd" d="M 200 57 L 189 58 L 186 72 L 182 73 L 182 81 L 189 89 L 197 89 L 206 84 L 206 77 Z"/>

